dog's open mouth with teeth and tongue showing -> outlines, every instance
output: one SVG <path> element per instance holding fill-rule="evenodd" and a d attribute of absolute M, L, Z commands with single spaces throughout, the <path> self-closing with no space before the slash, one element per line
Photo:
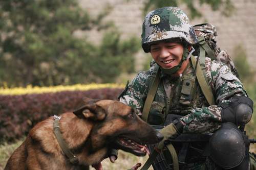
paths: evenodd
<path fill-rule="evenodd" d="M 146 154 L 150 154 L 150 151 L 146 145 L 139 144 L 133 139 L 129 139 L 127 137 L 120 137 L 117 140 L 117 144 L 119 145 L 120 149 L 137 156 L 145 156 Z"/>

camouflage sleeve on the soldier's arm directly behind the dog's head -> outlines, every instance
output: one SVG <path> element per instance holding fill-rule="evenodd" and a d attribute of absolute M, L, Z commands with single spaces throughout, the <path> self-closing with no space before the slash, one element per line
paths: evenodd
<path fill-rule="evenodd" d="M 150 79 L 151 75 L 149 71 L 139 72 L 120 97 L 120 102 L 134 108 L 136 113 L 140 116 L 142 115 Z"/>

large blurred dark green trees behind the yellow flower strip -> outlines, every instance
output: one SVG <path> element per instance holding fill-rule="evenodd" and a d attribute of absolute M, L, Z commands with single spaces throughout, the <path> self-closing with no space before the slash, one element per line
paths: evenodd
<path fill-rule="evenodd" d="M 133 60 L 122 57 L 137 51 L 137 41 L 120 41 L 110 22 L 91 18 L 74 0 L 9 0 L 0 2 L 1 59 L 0 83 L 11 86 L 58 85 L 88 82 L 110 82 L 120 70 L 98 74 L 120 62 L 123 69 L 133 71 Z M 109 28 L 109 42 L 96 46 L 87 39 L 74 36 L 77 30 Z M 112 29 L 111 29 L 112 28 Z M 106 41 L 106 40 L 103 40 Z M 128 43 L 129 45 L 125 44 Z M 108 55 L 104 55 L 108 45 Z M 124 51 L 116 47 L 125 46 Z M 120 57 L 122 60 L 120 60 Z M 114 62 L 110 62 L 114 61 Z"/>

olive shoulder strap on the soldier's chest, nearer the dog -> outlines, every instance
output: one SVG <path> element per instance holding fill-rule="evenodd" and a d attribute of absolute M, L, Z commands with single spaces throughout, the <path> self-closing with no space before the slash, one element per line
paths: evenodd
<path fill-rule="evenodd" d="M 152 85 L 150 86 L 150 90 L 148 90 L 146 100 L 143 106 L 142 119 L 145 122 L 147 122 L 148 113 L 150 112 L 152 102 L 155 98 L 159 82 L 160 82 L 160 69 L 159 69 L 159 66 L 157 66 L 157 75 L 154 78 Z"/>

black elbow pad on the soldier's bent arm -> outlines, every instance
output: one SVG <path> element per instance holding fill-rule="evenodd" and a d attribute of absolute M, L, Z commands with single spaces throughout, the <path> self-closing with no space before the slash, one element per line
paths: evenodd
<path fill-rule="evenodd" d="M 247 124 L 253 113 L 253 101 L 246 96 L 234 96 L 230 103 L 220 106 L 222 122 L 231 122 L 237 126 Z"/>

